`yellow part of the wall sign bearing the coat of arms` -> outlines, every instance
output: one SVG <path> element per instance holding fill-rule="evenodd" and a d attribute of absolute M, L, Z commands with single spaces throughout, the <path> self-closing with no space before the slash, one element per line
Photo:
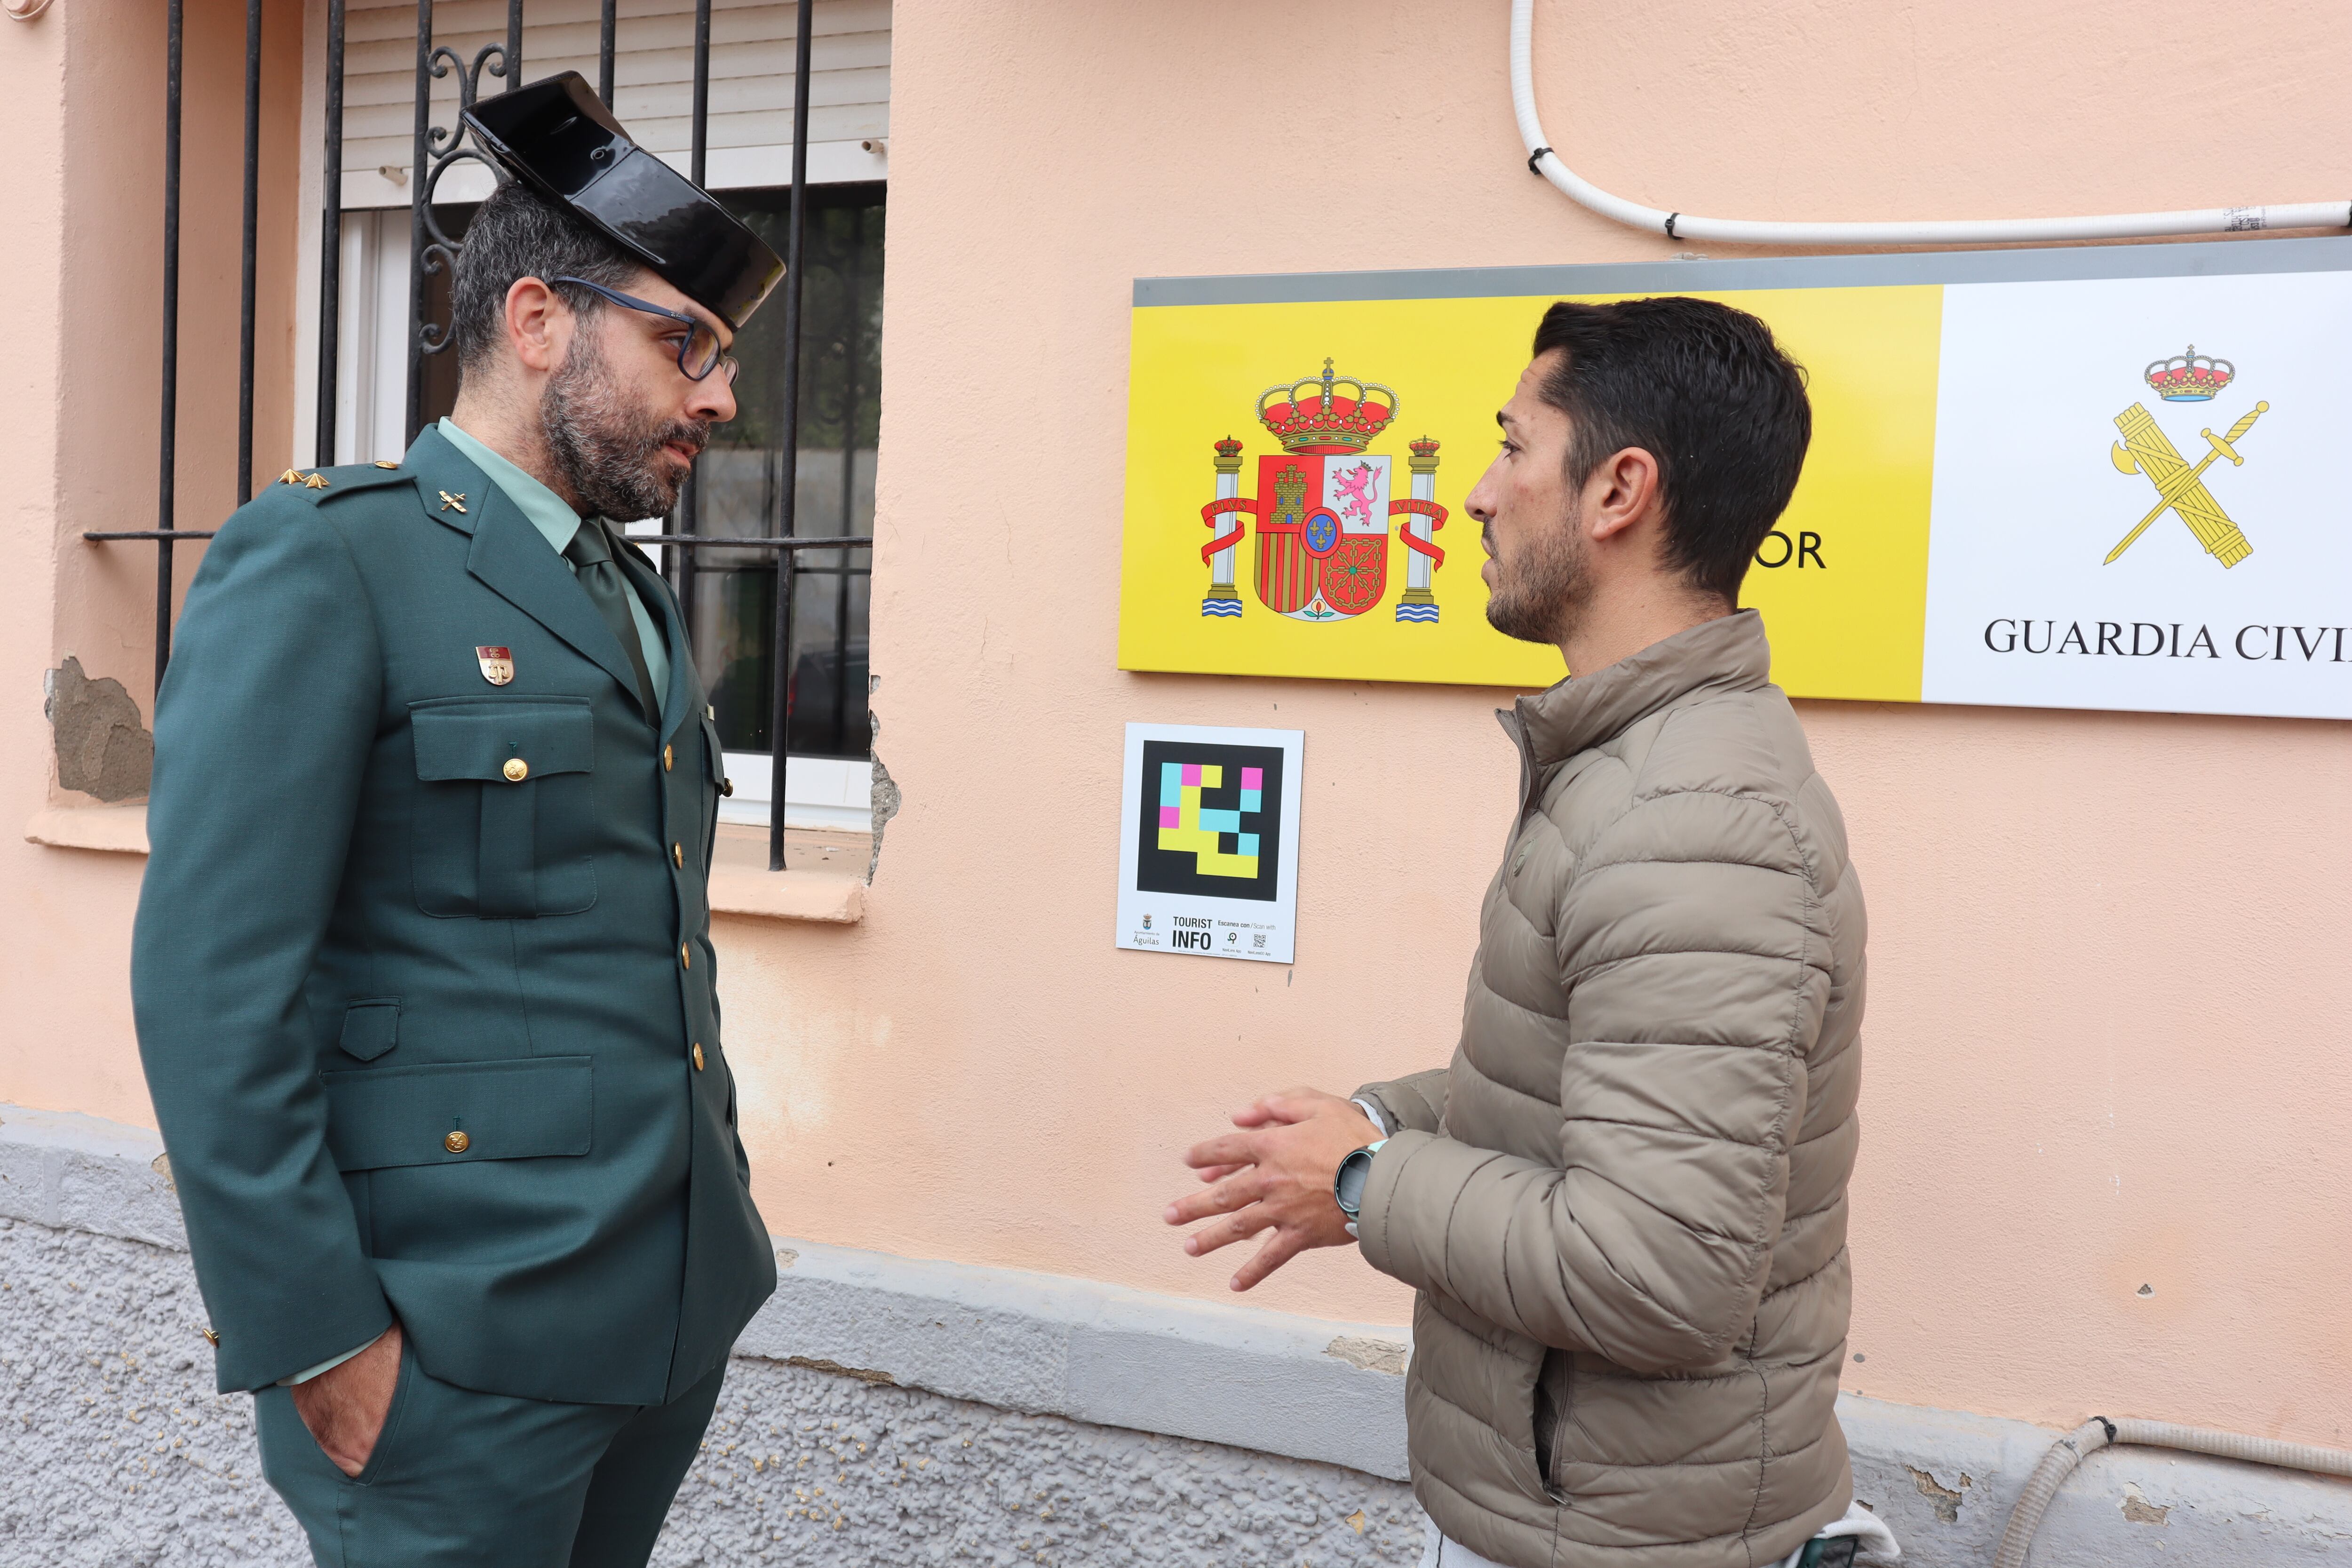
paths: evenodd
<path fill-rule="evenodd" d="M 1809 374 L 1811 456 L 1743 592 L 1797 696 L 1919 701 L 1940 294 L 1700 294 Z M 1486 625 L 1463 512 L 1552 299 L 1141 306 L 1120 668 L 1559 679 L 1555 649 Z"/>

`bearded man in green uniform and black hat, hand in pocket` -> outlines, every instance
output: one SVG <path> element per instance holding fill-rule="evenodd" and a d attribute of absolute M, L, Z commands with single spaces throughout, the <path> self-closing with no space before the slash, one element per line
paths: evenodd
<path fill-rule="evenodd" d="M 670 508 L 781 263 L 579 75 L 468 113 L 463 390 L 188 590 L 139 1046 L 320 1563 L 644 1563 L 776 1286 L 713 992 L 720 741 Z"/>

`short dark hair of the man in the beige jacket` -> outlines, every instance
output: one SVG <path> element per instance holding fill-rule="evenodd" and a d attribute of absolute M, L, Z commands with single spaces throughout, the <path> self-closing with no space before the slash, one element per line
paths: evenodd
<path fill-rule="evenodd" d="M 1668 564 L 1738 604 L 1813 440 L 1804 367 L 1757 317 L 1686 296 L 1562 301 L 1536 327 L 1536 357 L 1555 348 L 1538 395 L 1573 423 L 1569 482 L 1625 447 L 1649 451 Z"/>

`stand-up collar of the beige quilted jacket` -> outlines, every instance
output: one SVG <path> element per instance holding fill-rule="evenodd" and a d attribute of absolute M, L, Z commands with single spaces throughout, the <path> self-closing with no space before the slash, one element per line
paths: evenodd
<path fill-rule="evenodd" d="M 1639 719 L 1708 691 L 1757 691 L 1771 679 L 1764 616 L 1752 609 L 1700 621 L 1592 675 L 1522 696 L 1503 729 L 1522 736 L 1534 769 L 1566 762 Z"/>

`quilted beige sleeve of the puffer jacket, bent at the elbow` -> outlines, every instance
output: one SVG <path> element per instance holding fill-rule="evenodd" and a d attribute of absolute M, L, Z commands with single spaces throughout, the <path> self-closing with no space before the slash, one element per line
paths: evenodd
<path fill-rule="evenodd" d="M 1364 1258 L 1559 1349 L 1719 1361 L 1750 1328 L 1828 1001 L 1811 870 L 1759 797 L 1632 806 L 1555 910 L 1559 1161 L 1428 1131 L 1381 1150 Z"/>

